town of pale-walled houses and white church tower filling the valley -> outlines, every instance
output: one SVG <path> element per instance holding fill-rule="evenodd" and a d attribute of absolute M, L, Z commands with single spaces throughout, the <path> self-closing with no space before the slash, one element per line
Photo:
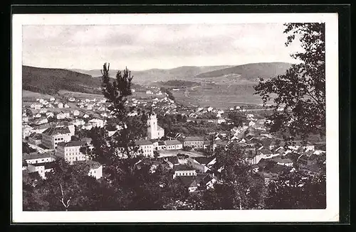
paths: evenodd
<path fill-rule="evenodd" d="M 179 91 L 179 89 L 172 89 Z M 135 164 L 167 168 L 167 177 L 181 182 L 194 194 L 214 188 L 221 182 L 221 166 L 216 150 L 231 144 L 246 153 L 246 163 L 266 186 L 295 167 L 305 175 L 325 172 L 325 141 L 286 145 L 281 136 L 270 133 L 261 106 L 239 105 L 229 109 L 184 106 L 174 100 L 169 89 L 142 87 L 132 89 L 125 102 L 133 106 L 128 116 L 146 110 L 145 133 L 135 140 L 142 158 Z M 88 164 L 88 176 L 105 178 L 105 167 L 83 153 L 83 146 L 93 148 L 88 131 L 102 128 L 106 136 L 114 136 L 122 126 L 112 123 L 112 111 L 103 96 L 80 98 L 57 96 L 23 103 L 23 175 L 46 179 L 53 162 L 63 158 L 70 165 Z M 281 109 L 283 110 L 283 109 Z"/>

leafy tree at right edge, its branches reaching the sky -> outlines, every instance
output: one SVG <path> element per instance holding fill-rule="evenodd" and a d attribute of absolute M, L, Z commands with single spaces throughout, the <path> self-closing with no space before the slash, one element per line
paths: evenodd
<path fill-rule="evenodd" d="M 286 23 L 286 46 L 300 41 L 302 52 L 291 57 L 299 60 L 286 74 L 260 79 L 254 89 L 266 104 L 273 98 L 271 132 L 288 133 L 287 141 L 310 133 L 325 134 L 325 23 Z M 283 109 L 283 111 L 278 111 Z"/>

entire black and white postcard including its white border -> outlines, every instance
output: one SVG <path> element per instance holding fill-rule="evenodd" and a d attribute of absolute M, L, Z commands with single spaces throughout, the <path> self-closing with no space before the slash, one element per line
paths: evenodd
<path fill-rule="evenodd" d="M 337 36 L 334 13 L 14 16 L 14 219 L 337 221 Z"/>

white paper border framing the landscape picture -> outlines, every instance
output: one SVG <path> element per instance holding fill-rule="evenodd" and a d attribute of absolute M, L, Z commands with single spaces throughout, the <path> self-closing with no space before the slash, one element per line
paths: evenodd
<path fill-rule="evenodd" d="M 40 222 L 332 222 L 339 221 L 337 13 L 14 14 L 12 16 L 12 216 Z M 327 208 L 218 211 L 22 211 L 22 26 L 197 23 L 325 23 Z M 305 196 L 308 197 L 308 196 Z"/>

